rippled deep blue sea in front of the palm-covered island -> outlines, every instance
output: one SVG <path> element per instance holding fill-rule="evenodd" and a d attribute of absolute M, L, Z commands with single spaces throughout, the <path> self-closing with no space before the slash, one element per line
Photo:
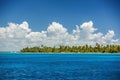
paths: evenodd
<path fill-rule="evenodd" d="M 120 80 L 120 54 L 0 54 L 0 80 Z"/>

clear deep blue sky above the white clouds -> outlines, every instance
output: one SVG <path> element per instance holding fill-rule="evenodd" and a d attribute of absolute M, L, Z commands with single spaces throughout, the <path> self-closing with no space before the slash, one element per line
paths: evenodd
<path fill-rule="evenodd" d="M 41 31 L 56 21 L 71 32 L 75 25 L 92 20 L 99 31 L 106 33 L 112 29 L 119 37 L 119 3 L 119 0 L 1 0 L 0 26 L 27 21 L 33 31 Z"/>

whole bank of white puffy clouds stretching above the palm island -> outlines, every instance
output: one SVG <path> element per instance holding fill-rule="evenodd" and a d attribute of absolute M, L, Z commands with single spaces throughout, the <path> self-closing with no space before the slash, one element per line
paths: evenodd
<path fill-rule="evenodd" d="M 19 51 L 26 46 L 59 46 L 59 45 L 94 45 L 119 44 L 120 39 L 114 39 L 113 30 L 106 34 L 96 33 L 93 22 L 76 25 L 73 33 L 68 33 L 62 24 L 52 22 L 46 31 L 33 32 L 26 21 L 21 24 L 9 23 L 7 27 L 0 27 L 0 51 Z"/>

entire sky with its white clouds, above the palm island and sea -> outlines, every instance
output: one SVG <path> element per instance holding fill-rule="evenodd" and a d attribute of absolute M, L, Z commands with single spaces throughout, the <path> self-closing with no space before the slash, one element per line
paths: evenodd
<path fill-rule="evenodd" d="M 120 44 L 119 30 L 119 0 L 0 0 L 0 51 Z"/>

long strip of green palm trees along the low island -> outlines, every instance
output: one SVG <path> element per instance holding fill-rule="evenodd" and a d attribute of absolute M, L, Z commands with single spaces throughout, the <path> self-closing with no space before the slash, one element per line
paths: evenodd
<path fill-rule="evenodd" d="M 101 53 L 119 53 L 120 45 L 100 45 L 96 43 L 96 46 L 90 45 L 84 46 L 59 46 L 59 47 L 26 47 L 21 52 L 101 52 Z"/>

